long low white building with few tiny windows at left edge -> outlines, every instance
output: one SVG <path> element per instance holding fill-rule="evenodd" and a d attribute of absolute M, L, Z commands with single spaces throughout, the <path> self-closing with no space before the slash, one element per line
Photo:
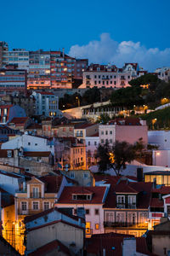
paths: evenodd
<path fill-rule="evenodd" d="M 23 134 L 19 137 L 14 137 L 7 143 L 3 143 L 1 149 L 23 148 L 23 151 L 50 151 L 54 155 L 54 145 L 45 137 L 36 137 Z"/>

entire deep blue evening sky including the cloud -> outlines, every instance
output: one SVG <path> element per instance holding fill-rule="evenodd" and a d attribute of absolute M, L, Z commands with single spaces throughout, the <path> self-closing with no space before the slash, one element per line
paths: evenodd
<path fill-rule="evenodd" d="M 9 49 L 62 49 L 89 63 L 170 67 L 169 0 L 8 0 L 0 41 Z"/>

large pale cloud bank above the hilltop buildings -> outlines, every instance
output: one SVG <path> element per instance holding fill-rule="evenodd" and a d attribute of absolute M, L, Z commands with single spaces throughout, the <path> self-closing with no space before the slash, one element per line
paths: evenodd
<path fill-rule="evenodd" d="M 124 62 L 138 62 L 140 67 L 154 71 L 156 67 L 170 66 L 170 48 L 147 49 L 140 42 L 113 40 L 109 33 L 102 33 L 99 41 L 90 41 L 86 45 L 71 46 L 69 55 L 88 58 L 89 63 L 111 63 L 122 67 Z"/>

